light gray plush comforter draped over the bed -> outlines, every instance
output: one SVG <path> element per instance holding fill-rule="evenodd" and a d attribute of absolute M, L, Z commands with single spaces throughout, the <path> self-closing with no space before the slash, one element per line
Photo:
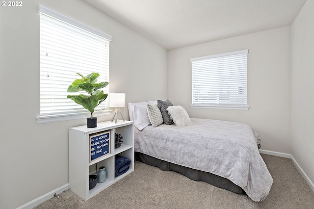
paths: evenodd
<path fill-rule="evenodd" d="M 134 128 L 134 151 L 224 177 L 253 201 L 262 201 L 273 179 L 259 153 L 257 133 L 243 123 L 191 120 L 184 127 Z"/>

